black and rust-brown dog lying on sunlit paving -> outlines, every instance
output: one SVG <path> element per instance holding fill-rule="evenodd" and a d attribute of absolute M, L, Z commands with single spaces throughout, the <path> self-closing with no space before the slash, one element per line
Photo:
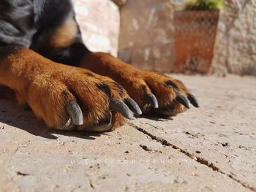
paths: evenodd
<path fill-rule="evenodd" d="M 1 96 L 29 104 L 50 128 L 111 131 L 199 107 L 181 81 L 91 52 L 70 0 L 1 0 L 0 29 Z"/>

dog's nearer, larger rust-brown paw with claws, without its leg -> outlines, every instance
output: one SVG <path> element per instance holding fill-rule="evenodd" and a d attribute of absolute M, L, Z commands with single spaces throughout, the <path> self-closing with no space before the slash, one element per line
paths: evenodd
<path fill-rule="evenodd" d="M 117 82 L 62 65 L 38 74 L 26 100 L 47 126 L 61 130 L 108 131 L 141 114 Z"/>

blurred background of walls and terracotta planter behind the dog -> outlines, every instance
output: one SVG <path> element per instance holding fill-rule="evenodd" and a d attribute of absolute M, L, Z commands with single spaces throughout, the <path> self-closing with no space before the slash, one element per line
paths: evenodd
<path fill-rule="evenodd" d="M 256 75 L 255 0 L 73 0 L 93 51 L 140 69 Z"/>

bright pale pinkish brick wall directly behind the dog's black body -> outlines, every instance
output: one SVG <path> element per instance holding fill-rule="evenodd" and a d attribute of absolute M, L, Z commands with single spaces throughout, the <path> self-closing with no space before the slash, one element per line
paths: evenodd
<path fill-rule="evenodd" d="M 120 16 L 110 0 L 72 0 L 83 41 L 90 50 L 117 55 Z"/>

